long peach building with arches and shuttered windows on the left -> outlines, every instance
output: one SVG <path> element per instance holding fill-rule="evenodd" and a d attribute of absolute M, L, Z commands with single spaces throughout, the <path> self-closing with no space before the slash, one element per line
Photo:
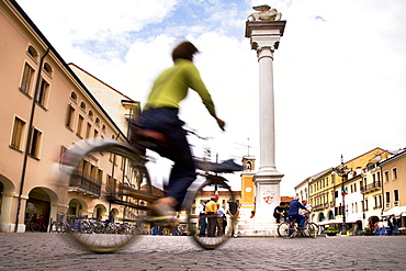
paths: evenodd
<path fill-rule="evenodd" d="M 0 230 L 24 232 L 33 215 L 46 225 L 60 213 L 122 215 L 100 196 L 125 174 L 109 159 L 83 161 L 76 182 L 56 179 L 55 165 L 81 139 L 125 142 L 126 115 L 119 126 L 15 1 L 0 1 Z"/>

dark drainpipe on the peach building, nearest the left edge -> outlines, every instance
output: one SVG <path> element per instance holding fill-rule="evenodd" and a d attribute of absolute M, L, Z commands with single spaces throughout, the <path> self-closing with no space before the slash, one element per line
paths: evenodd
<path fill-rule="evenodd" d="M 38 74 L 36 75 L 36 84 L 35 84 L 34 98 L 33 98 L 33 103 L 32 103 L 32 106 L 31 106 L 31 115 L 30 115 L 30 123 L 29 123 L 29 135 L 27 135 L 26 142 L 25 142 L 24 161 L 23 161 L 23 169 L 22 169 L 22 172 L 21 172 L 20 193 L 19 193 L 18 205 L 16 205 L 14 233 L 18 233 L 18 229 L 19 229 L 21 200 L 22 200 L 23 188 L 24 188 L 24 182 L 25 182 L 25 171 L 26 171 L 26 163 L 27 163 L 29 151 L 30 151 L 30 146 L 31 146 L 31 137 L 33 135 L 33 122 L 34 122 L 34 113 L 35 113 L 35 105 L 36 105 L 36 97 L 38 95 L 38 91 L 40 91 L 41 74 L 42 74 L 42 70 L 43 70 L 44 59 L 45 59 L 46 55 L 48 55 L 48 53 L 49 53 L 49 47 L 45 50 L 44 55 L 40 59 L 40 66 L 38 66 L 40 69 L 38 69 Z"/>

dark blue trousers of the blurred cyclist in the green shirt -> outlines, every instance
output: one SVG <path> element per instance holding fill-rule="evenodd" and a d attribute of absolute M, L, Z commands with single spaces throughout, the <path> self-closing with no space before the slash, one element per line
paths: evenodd
<path fill-rule="evenodd" d="M 139 124 L 143 128 L 165 134 L 169 139 L 169 146 L 159 153 L 160 156 L 173 161 L 165 195 L 177 199 L 177 210 L 180 210 L 188 188 L 196 179 L 187 132 L 182 128 L 184 122 L 179 120 L 178 109 L 159 108 L 144 111 Z"/>

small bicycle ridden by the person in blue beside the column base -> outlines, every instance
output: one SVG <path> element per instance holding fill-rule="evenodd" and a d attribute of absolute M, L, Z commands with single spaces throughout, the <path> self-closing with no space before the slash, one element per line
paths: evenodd
<path fill-rule="evenodd" d="M 278 225 L 278 235 L 282 238 L 293 238 L 295 236 L 316 238 L 318 226 L 316 223 L 307 222 L 304 227 L 298 227 L 296 219 L 289 217 L 289 221 Z"/>

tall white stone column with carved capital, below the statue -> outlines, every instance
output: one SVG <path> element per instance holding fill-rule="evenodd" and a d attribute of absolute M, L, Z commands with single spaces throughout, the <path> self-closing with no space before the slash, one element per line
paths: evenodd
<path fill-rule="evenodd" d="M 255 176 L 256 216 L 274 222 L 273 210 L 280 202 L 283 174 L 275 166 L 273 52 L 278 49 L 286 21 L 247 21 L 246 37 L 257 50 L 259 64 L 260 167 Z"/>

